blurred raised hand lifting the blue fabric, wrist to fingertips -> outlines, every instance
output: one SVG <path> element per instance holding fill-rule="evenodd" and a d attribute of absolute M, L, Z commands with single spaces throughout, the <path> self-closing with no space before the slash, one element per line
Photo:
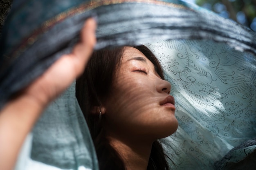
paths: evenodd
<path fill-rule="evenodd" d="M 83 73 L 96 43 L 96 23 L 90 18 L 81 31 L 81 42 L 72 53 L 63 55 L 41 77 L 22 91 L 39 105 L 46 106 Z"/>

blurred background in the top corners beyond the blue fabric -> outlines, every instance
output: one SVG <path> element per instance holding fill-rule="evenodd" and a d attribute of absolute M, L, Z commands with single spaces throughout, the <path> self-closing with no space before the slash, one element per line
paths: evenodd
<path fill-rule="evenodd" d="M 0 0 L 0 32 L 13 0 Z M 256 0 L 184 0 L 214 11 L 256 31 Z"/>

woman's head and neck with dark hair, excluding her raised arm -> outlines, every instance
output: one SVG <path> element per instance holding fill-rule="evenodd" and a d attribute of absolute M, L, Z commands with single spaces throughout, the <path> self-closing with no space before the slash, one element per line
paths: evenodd
<path fill-rule="evenodd" d="M 145 46 L 93 53 L 76 82 L 103 170 L 168 170 L 157 139 L 177 130 L 171 85 Z"/>

